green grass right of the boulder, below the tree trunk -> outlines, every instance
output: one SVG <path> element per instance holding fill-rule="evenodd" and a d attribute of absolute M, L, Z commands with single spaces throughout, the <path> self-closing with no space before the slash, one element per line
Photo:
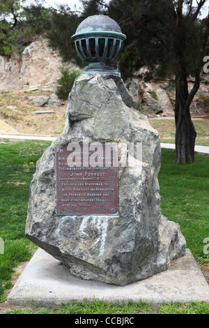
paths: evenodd
<path fill-rule="evenodd" d="M 209 156 L 196 154 L 192 165 L 176 165 L 174 151 L 162 149 L 158 179 L 162 214 L 180 223 L 187 248 L 196 260 L 208 261 L 203 240 L 209 237 Z"/>

